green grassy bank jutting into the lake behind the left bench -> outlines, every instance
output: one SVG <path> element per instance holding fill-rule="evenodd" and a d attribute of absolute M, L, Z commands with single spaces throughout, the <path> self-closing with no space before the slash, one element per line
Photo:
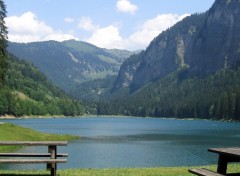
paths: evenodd
<path fill-rule="evenodd" d="M 61 141 L 76 139 L 76 136 L 41 133 L 10 123 L 0 124 L 0 141 Z M 0 152 L 12 152 L 18 146 L 0 146 Z"/>

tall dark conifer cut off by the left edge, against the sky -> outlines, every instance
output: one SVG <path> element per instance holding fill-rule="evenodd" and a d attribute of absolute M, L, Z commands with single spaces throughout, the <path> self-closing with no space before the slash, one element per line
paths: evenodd
<path fill-rule="evenodd" d="M 7 27 L 5 17 L 7 16 L 6 6 L 3 0 L 0 0 L 0 86 L 4 83 L 4 76 L 7 71 Z"/>

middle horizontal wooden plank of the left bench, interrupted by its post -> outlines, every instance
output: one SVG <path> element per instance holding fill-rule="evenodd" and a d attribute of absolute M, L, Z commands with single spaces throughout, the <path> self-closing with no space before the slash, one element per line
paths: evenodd
<path fill-rule="evenodd" d="M 0 157 L 50 157 L 50 153 L 0 153 Z M 68 157 L 67 153 L 58 153 L 57 157 Z"/>

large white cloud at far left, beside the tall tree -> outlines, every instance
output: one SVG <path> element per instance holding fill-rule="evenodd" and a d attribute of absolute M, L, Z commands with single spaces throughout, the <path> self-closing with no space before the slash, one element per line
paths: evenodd
<path fill-rule="evenodd" d="M 70 34 L 53 30 L 44 22 L 39 21 L 32 12 L 26 12 L 21 16 L 10 16 L 5 21 L 9 31 L 8 38 L 13 42 L 63 41 L 75 38 Z"/>

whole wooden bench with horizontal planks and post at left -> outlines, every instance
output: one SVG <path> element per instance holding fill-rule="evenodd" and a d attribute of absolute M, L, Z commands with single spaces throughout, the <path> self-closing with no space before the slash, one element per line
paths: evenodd
<path fill-rule="evenodd" d="M 57 163 L 66 163 L 68 154 L 57 153 L 57 146 L 66 146 L 67 141 L 0 141 L 0 146 L 48 146 L 48 153 L 0 153 L 1 164 L 47 164 L 51 176 L 57 175 Z M 3 157 L 3 158 L 2 158 Z M 17 159 L 13 159 L 17 158 Z"/>

